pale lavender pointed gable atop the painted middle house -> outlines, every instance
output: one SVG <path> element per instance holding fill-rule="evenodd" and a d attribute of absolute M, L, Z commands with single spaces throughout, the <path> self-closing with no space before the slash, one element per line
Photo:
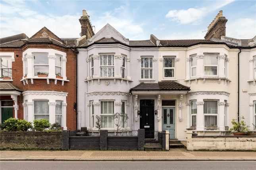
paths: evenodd
<path fill-rule="evenodd" d="M 99 40 L 102 40 L 103 38 L 106 38 L 106 39 L 114 38 L 115 40 L 117 40 L 119 42 L 129 45 L 129 39 L 125 38 L 122 34 L 120 34 L 110 24 L 105 25 L 94 36 L 92 36 L 92 38 L 88 39 L 88 44 L 98 42 Z"/>

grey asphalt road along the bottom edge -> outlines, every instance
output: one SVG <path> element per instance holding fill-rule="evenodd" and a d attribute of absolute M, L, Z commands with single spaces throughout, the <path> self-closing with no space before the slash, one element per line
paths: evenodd
<path fill-rule="evenodd" d="M 1 161 L 1 170 L 254 170 L 256 161 L 44 162 Z"/>

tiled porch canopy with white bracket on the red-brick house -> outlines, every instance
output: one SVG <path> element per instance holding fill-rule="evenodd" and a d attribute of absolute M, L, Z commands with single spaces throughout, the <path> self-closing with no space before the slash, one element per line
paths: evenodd
<path fill-rule="evenodd" d="M 13 108 L 14 108 L 14 113 L 15 113 L 14 117 L 15 118 L 18 118 L 18 110 L 19 110 L 17 96 L 19 96 L 21 93 L 22 93 L 21 89 L 19 89 L 18 87 L 16 87 L 15 85 L 13 85 L 10 82 L 1 82 L 0 83 L 0 95 L 1 96 L 10 96 L 14 102 Z M 1 114 L 3 114 L 3 113 L 1 112 Z"/>

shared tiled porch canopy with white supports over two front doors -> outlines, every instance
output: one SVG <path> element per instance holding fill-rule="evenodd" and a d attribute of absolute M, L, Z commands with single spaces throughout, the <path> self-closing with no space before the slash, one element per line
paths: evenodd
<path fill-rule="evenodd" d="M 135 100 L 134 102 L 134 113 L 135 113 L 135 122 L 140 120 L 140 128 L 148 127 L 147 122 L 146 125 L 141 127 L 143 122 L 143 110 L 146 103 L 148 101 L 152 101 L 151 106 L 153 110 L 153 114 L 151 114 L 153 128 L 154 130 L 162 130 L 162 125 L 158 122 L 162 117 L 162 102 L 165 100 L 166 102 L 174 101 L 174 105 L 179 108 L 179 119 L 181 119 L 181 109 L 182 109 L 182 100 L 183 96 L 190 91 L 190 87 L 177 83 L 176 81 L 159 81 L 158 83 L 140 83 L 139 85 L 130 89 L 130 93 L 133 95 Z M 151 109 L 151 110 L 152 110 Z M 146 111 L 146 119 L 150 119 L 149 111 Z M 140 115 L 138 114 L 140 113 Z M 139 116 L 139 117 L 138 117 Z M 148 120 L 146 120 L 148 121 Z M 152 128 L 152 129 L 153 129 Z M 146 129 L 145 129 L 146 132 Z"/>

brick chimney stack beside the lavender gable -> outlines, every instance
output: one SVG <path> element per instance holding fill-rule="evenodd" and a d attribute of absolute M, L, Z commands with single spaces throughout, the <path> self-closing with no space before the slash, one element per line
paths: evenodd
<path fill-rule="evenodd" d="M 79 19 L 81 24 L 81 36 L 86 36 L 87 39 L 94 36 L 94 32 L 92 30 L 92 25 L 90 23 L 90 17 L 87 15 L 85 9 L 83 9 L 83 16 Z"/>

